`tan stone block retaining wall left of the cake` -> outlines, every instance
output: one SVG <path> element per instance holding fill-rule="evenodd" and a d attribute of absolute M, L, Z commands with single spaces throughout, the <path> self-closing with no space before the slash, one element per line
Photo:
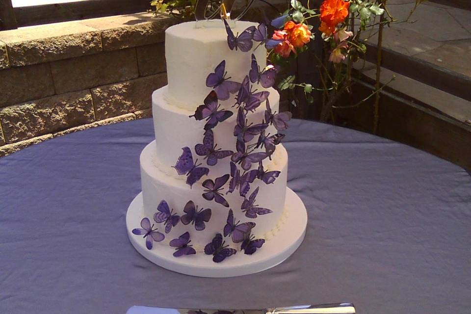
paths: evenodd
<path fill-rule="evenodd" d="M 0 31 L 0 157 L 56 136 L 151 116 L 165 85 L 150 13 Z"/>

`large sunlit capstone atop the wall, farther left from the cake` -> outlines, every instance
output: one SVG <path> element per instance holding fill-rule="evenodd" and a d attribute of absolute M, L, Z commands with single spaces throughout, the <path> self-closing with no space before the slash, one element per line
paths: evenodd
<path fill-rule="evenodd" d="M 44 63 L 102 50 L 100 32 L 77 22 L 27 26 L 0 32 L 11 66 Z"/>

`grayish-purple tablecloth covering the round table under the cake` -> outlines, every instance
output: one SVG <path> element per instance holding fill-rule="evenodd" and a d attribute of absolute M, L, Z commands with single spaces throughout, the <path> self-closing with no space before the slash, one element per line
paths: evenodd
<path fill-rule="evenodd" d="M 471 311 L 471 178 L 416 149 L 294 120 L 288 185 L 301 247 L 262 273 L 196 278 L 131 246 L 152 120 L 69 134 L 0 159 L 0 313 L 124 314 L 132 305 L 263 308 L 353 302 L 361 314 Z"/>

